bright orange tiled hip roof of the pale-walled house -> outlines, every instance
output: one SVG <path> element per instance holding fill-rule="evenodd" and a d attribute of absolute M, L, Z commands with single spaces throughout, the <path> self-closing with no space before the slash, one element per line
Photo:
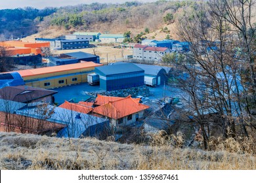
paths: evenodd
<path fill-rule="evenodd" d="M 119 118 L 123 118 L 124 116 L 128 116 L 129 114 L 134 114 L 136 112 L 140 112 L 141 110 L 145 110 L 146 108 L 149 107 L 147 105 L 140 104 L 135 99 L 131 98 L 131 96 L 128 96 L 116 101 L 109 101 L 104 105 L 95 107 L 93 112 L 117 120 Z"/>

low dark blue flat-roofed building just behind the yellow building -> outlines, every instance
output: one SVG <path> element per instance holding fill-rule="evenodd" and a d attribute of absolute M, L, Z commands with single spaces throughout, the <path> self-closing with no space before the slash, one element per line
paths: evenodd
<path fill-rule="evenodd" d="M 56 62 L 56 65 L 66 65 L 71 63 L 79 63 L 81 61 L 93 61 L 100 63 L 100 57 L 85 52 L 72 52 L 66 54 L 60 54 L 57 57 L 51 57 L 51 60 Z"/>

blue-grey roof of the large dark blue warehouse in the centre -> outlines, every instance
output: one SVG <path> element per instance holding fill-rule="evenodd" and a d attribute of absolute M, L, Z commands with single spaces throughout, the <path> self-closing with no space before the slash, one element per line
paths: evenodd
<path fill-rule="evenodd" d="M 125 73 L 144 73 L 144 70 L 135 65 L 134 63 L 123 63 L 115 65 L 106 65 L 102 67 L 95 67 L 95 73 L 103 76 L 119 75 Z"/>

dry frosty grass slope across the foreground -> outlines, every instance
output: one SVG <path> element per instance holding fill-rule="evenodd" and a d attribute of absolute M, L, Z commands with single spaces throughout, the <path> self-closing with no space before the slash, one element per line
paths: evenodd
<path fill-rule="evenodd" d="M 0 133 L 0 169 L 256 169 L 255 155 L 175 148 L 160 136 L 161 145 L 139 146 Z"/>

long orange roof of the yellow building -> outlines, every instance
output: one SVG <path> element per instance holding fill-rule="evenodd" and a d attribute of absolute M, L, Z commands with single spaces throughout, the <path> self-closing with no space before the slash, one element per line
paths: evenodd
<path fill-rule="evenodd" d="M 27 69 L 27 70 L 20 70 L 17 71 L 20 73 L 22 77 L 26 76 L 35 76 L 35 75 L 45 75 L 47 73 L 56 73 L 62 71 L 70 71 L 74 69 L 84 69 L 88 67 L 98 67 L 101 66 L 100 63 L 94 63 L 93 61 L 87 61 L 86 63 L 74 63 L 68 65 L 58 65 L 53 67 L 42 67 L 38 69 Z"/>

